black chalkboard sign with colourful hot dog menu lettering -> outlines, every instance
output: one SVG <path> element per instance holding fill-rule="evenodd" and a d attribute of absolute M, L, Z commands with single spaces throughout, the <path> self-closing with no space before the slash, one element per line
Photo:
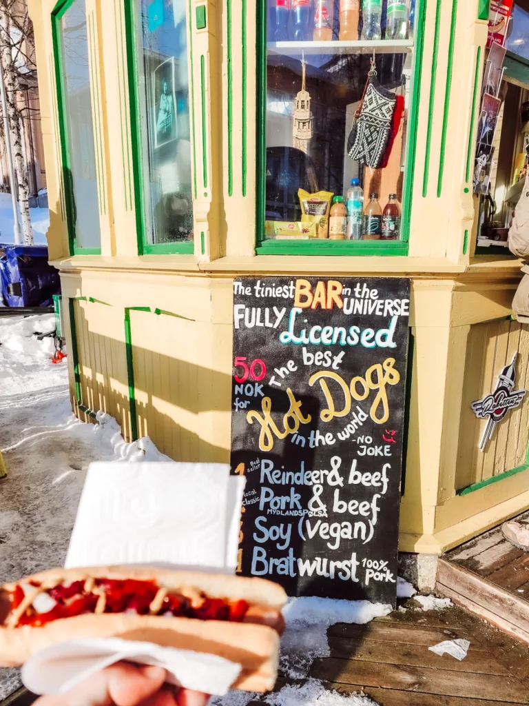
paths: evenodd
<path fill-rule="evenodd" d="M 409 280 L 233 287 L 238 571 L 290 595 L 394 604 Z"/>

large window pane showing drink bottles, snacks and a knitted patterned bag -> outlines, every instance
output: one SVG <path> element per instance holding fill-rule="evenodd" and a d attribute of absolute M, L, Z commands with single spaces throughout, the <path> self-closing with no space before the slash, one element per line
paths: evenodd
<path fill-rule="evenodd" d="M 269 0 L 265 239 L 401 239 L 411 5 L 360 6 Z"/>

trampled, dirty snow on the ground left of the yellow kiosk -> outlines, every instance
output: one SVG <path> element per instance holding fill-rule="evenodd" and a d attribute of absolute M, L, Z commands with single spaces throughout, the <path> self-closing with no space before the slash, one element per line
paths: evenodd
<path fill-rule="evenodd" d="M 125 443 L 115 419 L 72 414 L 66 363 L 54 365 L 54 317 L 0 318 L 0 583 L 61 566 L 92 461 L 169 460 L 148 439 Z M 0 701 L 20 686 L 0 669 Z"/>

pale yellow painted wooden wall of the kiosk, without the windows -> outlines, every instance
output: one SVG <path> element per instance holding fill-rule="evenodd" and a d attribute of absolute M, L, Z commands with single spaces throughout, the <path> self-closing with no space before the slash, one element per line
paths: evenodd
<path fill-rule="evenodd" d="M 427 3 L 410 251 L 407 257 L 386 258 L 255 256 L 255 2 L 245 2 L 247 21 L 243 28 L 243 0 L 232 0 L 231 17 L 226 0 L 209 0 L 207 28 L 197 30 L 195 7 L 200 4 L 203 0 L 190 0 L 188 6 L 194 59 L 188 70 L 190 84 L 195 86 L 192 118 L 198 185 L 194 254 L 138 256 L 138 196 L 131 160 L 123 1 L 87 0 L 96 28 L 93 39 L 100 85 L 94 89 L 100 108 L 95 119 L 102 126 L 107 209 L 99 216 L 102 255 L 70 256 L 51 43 L 54 0 L 30 0 L 49 181 L 50 258 L 61 270 L 63 301 L 87 299 L 74 302 L 80 401 L 112 414 L 130 438 L 124 318 L 127 308 L 147 307 L 152 311 L 130 311 L 140 433 L 150 436 L 160 450 L 176 460 L 225 462 L 229 459 L 231 424 L 233 279 L 255 274 L 406 275 L 413 283 L 415 350 L 401 549 L 439 552 L 529 507 L 529 471 L 466 496 L 456 494 L 463 484 L 518 462 L 518 450 L 515 455 L 509 448 L 509 428 L 501 427 L 497 433 L 494 454 L 498 453 L 498 462 L 496 455 L 492 463 L 475 453 L 479 425 L 470 418 L 468 401 L 475 390 L 487 390 L 497 374 L 501 362 L 497 346 L 504 346 L 507 352 L 520 345 L 524 370 L 529 354 L 525 337 L 521 340 L 518 335 L 516 343 L 518 325 L 487 323 L 511 315 L 520 277 L 518 261 L 473 255 L 476 222 L 471 179 L 477 119 L 471 127 L 471 114 L 474 92 L 480 92 L 481 78 L 478 86 L 474 85 L 478 47 L 483 61 L 487 36 L 486 23 L 477 19 L 478 0 L 460 0 L 454 23 L 451 0 L 439 4 L 439 17 L 437 4 Z M 226 54 L 229 31 L 231 124 Z M 433 76 L 435 47 L 437 73 Z M 197 90 L 202 56 L 204 126 Z M 453 74 L 448 82 L 450 64 Z M 481 73 L 480 67 L 480 77 Z M 248 95 L 245 112 L 241 104 L 243 76 Z M 232 180 L 228 171 L 230 145 Z M 155 309 L 176 316 L 152 313 Z M 67 311 L 66 319 L 68 323 Z M 67 338 L 71 349 L 68 332 Z M 485 361 L 478 352 L 481 341 L 490 349 Z M 475 363 L 478 360 L 480 365 Z M 69 366 L 77 409 L 71 356 Z M 520 430 L 525 429 L 525 414 L 524 408 L 512 417 L 512 424 Z M 528 441 L 524 434 L 520 448 Z"/>

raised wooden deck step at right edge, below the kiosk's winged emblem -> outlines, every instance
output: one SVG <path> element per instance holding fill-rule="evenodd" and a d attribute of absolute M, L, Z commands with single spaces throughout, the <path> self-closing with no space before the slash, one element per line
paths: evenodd
<path fill-rule="evenodd" d="M 440 559 L 437 590 L 529 643 L 529 553 L 507 542 L 501 527 Z"/>

